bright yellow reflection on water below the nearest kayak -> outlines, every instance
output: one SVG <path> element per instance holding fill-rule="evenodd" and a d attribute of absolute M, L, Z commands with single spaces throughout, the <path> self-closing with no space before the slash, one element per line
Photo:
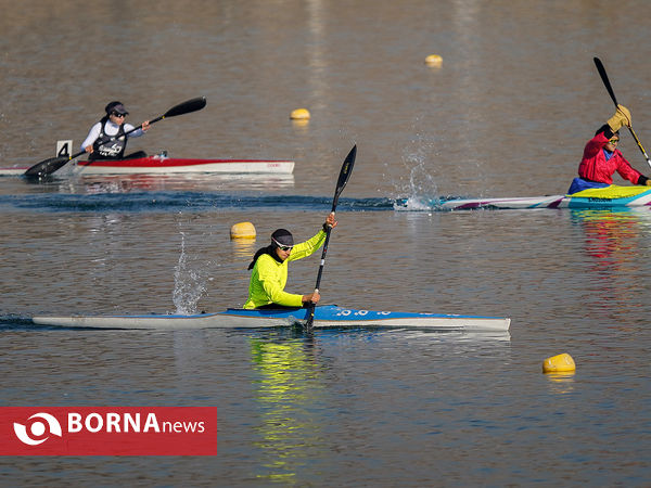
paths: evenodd
<path fill-rule="evenodd" d="M 260 440 L 266 451 L 261 463 L 268 472 L 259 478 L 291 483 L 296 468 L 322 445 L 319 424 L 309 413 L 322 404 L 324 385 L 310 342 L 251 338 L 251 355 L 259 378 L 255 382 L 260 407 Z"/>

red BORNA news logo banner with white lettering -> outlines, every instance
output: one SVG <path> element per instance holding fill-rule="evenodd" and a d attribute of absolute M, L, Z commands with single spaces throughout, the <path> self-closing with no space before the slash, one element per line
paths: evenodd
<path fill-rule="evenodd" d="M 217 407 L 0 407 L 0 455 L 216 455 Z"/>

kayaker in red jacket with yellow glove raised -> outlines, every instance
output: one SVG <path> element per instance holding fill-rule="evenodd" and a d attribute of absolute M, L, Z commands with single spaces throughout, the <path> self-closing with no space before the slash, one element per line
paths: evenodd
<path fill-rule="evenodd" d="M 576 193 L 586 188 L 608 187 L 613 183 L 612 177 L 615 171 L 633 184 L 651 187 L 651 179 L 634 169 L 617 150 L 618 131 L 624 126 L 630 127 L 630 112 L 624 105 L 617 105 L 615 115 L 609 118 L 586 144 L 578 165 L 579 178 L 574 179 L 567 193 Z"/>

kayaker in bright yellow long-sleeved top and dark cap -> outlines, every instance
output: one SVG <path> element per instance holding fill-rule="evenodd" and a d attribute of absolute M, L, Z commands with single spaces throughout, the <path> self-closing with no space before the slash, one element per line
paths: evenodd
<path fill-rule="evenodd" d="M 294 245 L 292 233 L 278 229 L 271 234 L 271 244 L 255 253 L 248 269 L 248 298 L 244 308 L 280 308 L 303 307 L 317 304 L 321 298 L 318 292 L 296 295 L 284 291 L 288 282 L 288 265 L 290 261 L 309 256 L 326 242 L 326 229 L 336 227 L 334 214 L 330 214 L 323 223 L 323 229 L 302 243 Z"/>

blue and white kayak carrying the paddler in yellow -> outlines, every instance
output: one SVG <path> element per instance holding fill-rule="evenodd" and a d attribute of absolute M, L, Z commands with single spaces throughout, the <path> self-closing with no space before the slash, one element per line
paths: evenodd
<path fill-rule="evenodd" d="M 31 320 L 39 325 L 92 329 L 259 329 L 302 325 L 307 310 L 229 308 L 217 313 L 144 314 L 144 316 L 37 316 Z M 438 331 L 507 332 L 511 320 L 498 317 L 460 316 L 444 313 L 405 313 L 391 311 L 355 310 L 335 305 L 318 306 L 315 328 L 414 328 Z"/>

